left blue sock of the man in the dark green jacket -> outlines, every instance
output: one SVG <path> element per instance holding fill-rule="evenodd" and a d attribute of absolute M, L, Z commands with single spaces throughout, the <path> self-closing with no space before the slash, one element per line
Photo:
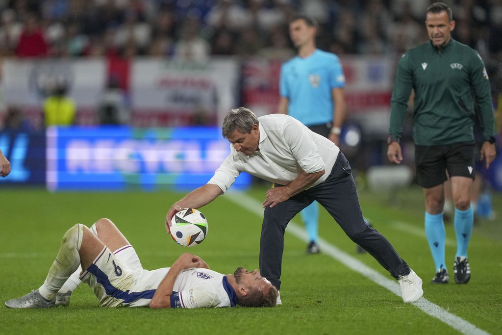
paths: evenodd
<path fill-rule="evenodd" d="M 446 234 L 444 231 L 443 213 L 429 214 L 425 212 L 425 235 L 429 242 L 436 272 L 439 269 L 446 269 L 444 262 L 444 245 L 446 243 Z"/>

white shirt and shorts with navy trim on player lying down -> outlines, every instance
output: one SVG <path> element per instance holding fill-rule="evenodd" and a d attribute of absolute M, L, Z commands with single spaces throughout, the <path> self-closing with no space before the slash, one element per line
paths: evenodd
<path fill-rule="evenodd" d="M 149 306 L 169 268 L 143 269 L 132 247 L 115 253 L 104 248 L 80 278 L 94 290 L 103 307 Z M 233 307 L 236 303 L 226 276 L 203 268 L 181 271 L 171 294 L 173 308 Z"/>

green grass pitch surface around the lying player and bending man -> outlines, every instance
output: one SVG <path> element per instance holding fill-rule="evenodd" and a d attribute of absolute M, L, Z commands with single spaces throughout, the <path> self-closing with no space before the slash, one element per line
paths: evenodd
<path fill-rule="evenodd" d="M 262 201 L 264 188 L 249 194 Z M 11 310 L 4 301 L 40 286 L 63 233 L 80 222 L 112 219 L 135 246 L 147 269 L 170 266 L 183 252 L 201 256 L 216 271 L 232 273 L 237 266 L 258 267 L 261 217 L 219 197 L 201 208 L 209 222 L 208 238 L 195 248 L 176 245 L 165 233 L 168 207 L 181 193 L 48 193 L 44 189 L 0 189 L 0 333 L 100 334 L 148 333 L 457 333 L 400 297 L 355 273 L 331 257 L 306 255 L 306 243 L 286 234 L 283 258 L 283 305 L 277 308 L 151 310 L 100 308 L 87 285 L 79 287 L 67 308 Z M 424 280 L 425 297 L 492 333 L 502 333 L 502 223 L 481 221 L 474 227 L 469 248 L 472 278 L 467 285 L 453 281 L 455 236 L 446 225 L 448 285 L 429 284 L 432 257 L 423 235 L 423 196 L 418 187 L 402 190 L 397 204 L 382 194 L 360 192 L 363 212 L 395 246 L 400 256 Z M 495 195 L 493 208 L 502 208 Z M 301 224 L 300 219 L 294 219 Z M 321 210 L 320 235 L 326 241 L 388 275 L 369 255 L 355 254 L 355 245 Z M 422 232 L 422 236 L 420 236 Z"/>

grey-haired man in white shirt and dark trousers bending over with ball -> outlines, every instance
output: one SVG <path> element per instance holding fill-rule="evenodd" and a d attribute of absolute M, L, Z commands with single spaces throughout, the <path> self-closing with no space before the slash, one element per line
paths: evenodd
<path fill-rule="evenodd" d="M 275 184 L 263 202 L 260 271 L 278 290 L 286 226 L 317 200 L 352 241 L 398 279 L 404 302 L 423 295 L 422 280 L 382 234 L 365 224 L 350 165 L 333 142 L 288 115 L 257 118 L 244 107 L 230 111 L 222 132 L 231 143 L 230 154 L 207 184 L 171 206 L 166 215 L 167 229 L 181 208 L 199 208 L 211 202 L 244 171 Z"/>

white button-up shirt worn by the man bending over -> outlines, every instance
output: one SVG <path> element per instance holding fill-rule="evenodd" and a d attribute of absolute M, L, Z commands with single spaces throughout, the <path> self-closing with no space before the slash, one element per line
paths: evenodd
<path fill-rule="evenodd" d="M 242 171 L 287 185 L 302 171 L 314 173 L 325 169 L 324 175 L 309 188 L 326 180 L 340 152 L 333 142 L 288 115 L 271 114 L 258 118 L 258 121 L 259 151 L 246 156 L 230 145 L 230 154 L 208 184 L 218 185 L 226 192 Z"/>

